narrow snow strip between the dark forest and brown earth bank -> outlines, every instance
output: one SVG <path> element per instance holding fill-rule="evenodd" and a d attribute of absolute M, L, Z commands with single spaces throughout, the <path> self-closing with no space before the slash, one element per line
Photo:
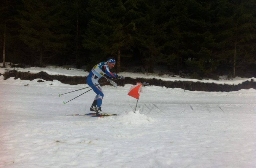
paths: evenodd
<path fill-rule="evenodd" d="M 39 73 L 41 71 L 48 73 L 49 75 L 64 75 L 64 76 L 88 76 L 89 72 L 85 71 L 84 69 L 77 69 L 77 68 L 70 68 L 70 67 L 58 67 L 58 66 L 47 66 L 46 68 L 39 68 L 39 67 L 30 67 L 30 68 L 10 68 L 7 64 L 7 68 L 0 68 L 0 73 L 4 74 L 6 71 L 16 70 L 21 72 L 29 72 L 29 73 Z M 0 63 L 0 66 L 2 63 Z M 158 73 L 133 73 L 133 72 L 120 72 L 118 75 L 122 75 L 124 77 L 131 77 L 133 79 L 136 78 L 144 78 L 144 79 L 161 79 L 163 81 L 193 81 L 193 82 L 203 82 L 203 83 L 216 83 L 216 84 L 230 84 L 230 85 L 237 85 L 241 84 L 244 81 L 251 81 L 253 80 L 256 82 L 256 78 L 241 78 L 235 77 L 231 79 L 227 79 L 226 76 L 220 76 L 219 80 L 198 80 L 198 79 L 187 79 L 181 78 L 180 76 L 176 75 L 159 75 Z M 174 77 L 173 77 L 174 76 Z"/>

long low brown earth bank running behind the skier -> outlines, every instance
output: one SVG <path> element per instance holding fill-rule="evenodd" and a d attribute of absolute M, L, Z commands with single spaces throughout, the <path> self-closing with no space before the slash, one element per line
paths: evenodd
<path fill-rule="evenodd" d="M 14 79 L 20 78 L 21 80 L 34 80 L 34 79 L 44 79 L 45 81 L 58 80 L 64 84 L 76 85 L 76 84 L 86 84 L 87 77 L 82 76 L 63 76 L 63 75 L 49 75 L 46 72 L 39 73 L 29 73 L 20 72 L 16 70 L 8 71 L 3 74 L 4 80 L 14 77 Z M 99 83 L 105 82 L 105 79 L 100 79 Z M 149 85 L 161 86 L 166 88 L 181 88 L 190 91 L 207 91 L 207 92 L 230 92 L 237 91 L 240 89 L 256 89 L 256 82 L 251 79 L 251 81 L 245 81 L 238 85 L 229 84 L 216 84 L 216 83 L 202 83 L 193 81 L 163 81 L 161 79 L 144 79 L 144 78 L 130 78 L 125 77 L 124 80 L 117 80 L 118 86 L 124 86 L 125 84 L 136 84 L 136 81 L 147 82 Z M 42 82 L 42 81 L 39 81 Z M 103 85 L 110 85 L 109 83 Z"/>

